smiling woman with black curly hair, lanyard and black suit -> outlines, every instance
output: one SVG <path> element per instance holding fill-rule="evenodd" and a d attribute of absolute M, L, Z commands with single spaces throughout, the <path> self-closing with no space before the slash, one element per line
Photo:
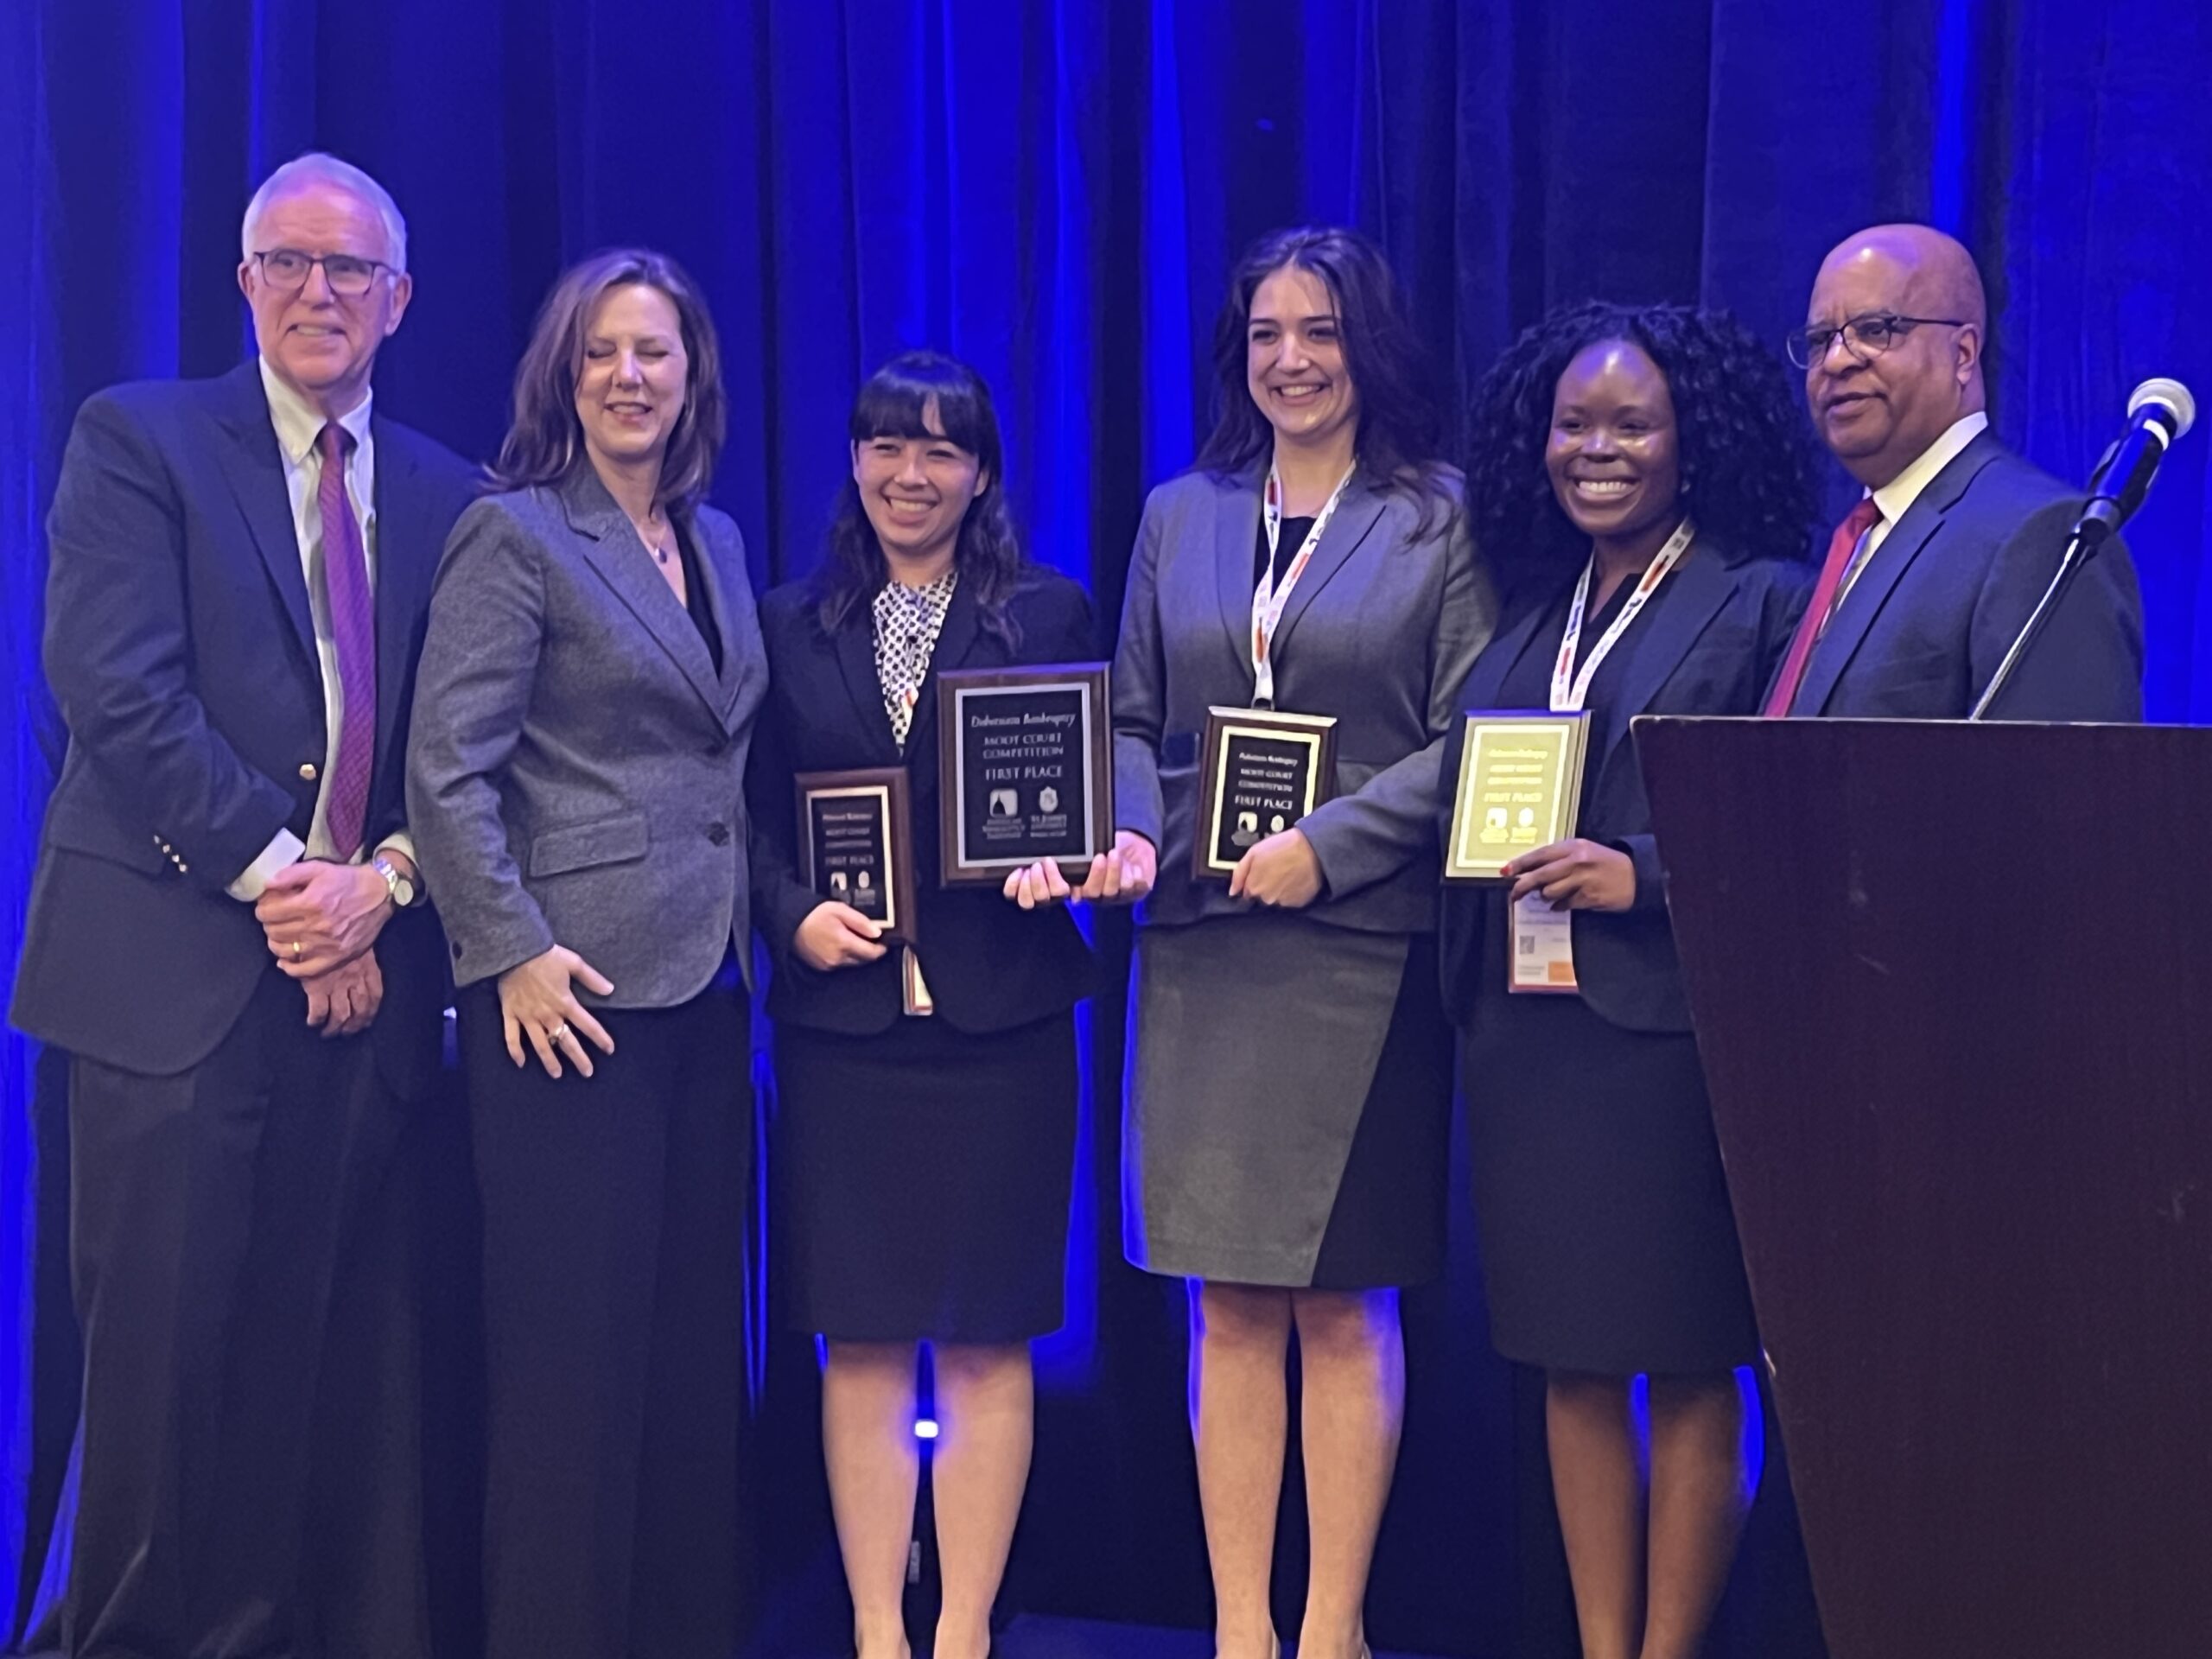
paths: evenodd
<path fill-rule="evenodd" d="M 1759 1334 L 1628 723 L 1759 712 L 1809 588 L 1807 453 L 1781 365 L 1674 305 L 1546 319 L 1471 416 L 1517 619 L 1458 706 L 1590 719 L 1582 834 L 1449 889 L 1440 925 L 1491 1340 L 1546 1371 L 1588 1659 L 1699 1652 L 1754 1484 Z M 1513 995 L 1524 962 L 1575 993 Z"/>

